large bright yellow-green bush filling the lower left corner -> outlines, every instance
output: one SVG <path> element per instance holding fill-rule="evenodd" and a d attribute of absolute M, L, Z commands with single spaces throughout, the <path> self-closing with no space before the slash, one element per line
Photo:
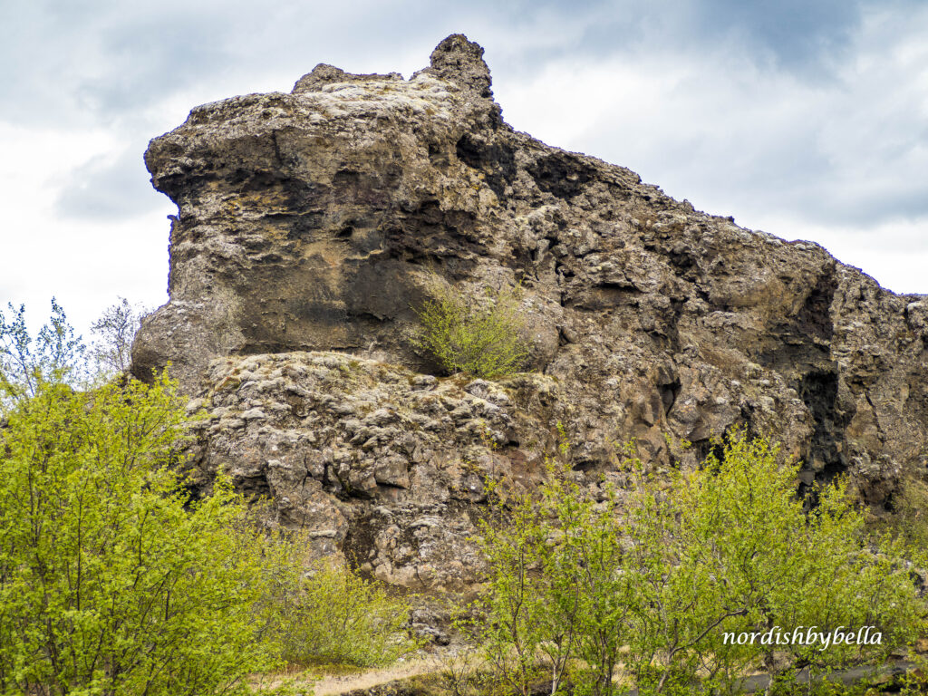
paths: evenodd
<path fill-rule="evenodd" d="M 170 465 L 174 384 L 40 381 L 0 429 L 0 693 L 217 694 L 275 664 L 267 568 L 284 546 L 220 476 L 190 500 Z"/>

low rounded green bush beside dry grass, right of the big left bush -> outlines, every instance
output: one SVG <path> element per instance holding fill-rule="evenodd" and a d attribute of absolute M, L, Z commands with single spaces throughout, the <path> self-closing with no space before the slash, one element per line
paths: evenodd
<path fill-rule="evenodd" d="M 389 664 L 419 648 L 408 635 L 409 604 L 375 582 L 318 563 L 277 588 L 277 635 L 292 664 Z"/>

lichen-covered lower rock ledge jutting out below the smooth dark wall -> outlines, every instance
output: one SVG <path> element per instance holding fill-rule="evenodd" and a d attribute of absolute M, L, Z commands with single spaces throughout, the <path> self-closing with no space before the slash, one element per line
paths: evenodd
<path fill-rule="evenodd" d="M 343 553 L 387 582 L 462 590 L 482 564 L 470 536 L 484 482 L 528 487 L 561 418 L 556 380 L 436 380 L 338 353 L 230 357 L 191 408 L 196 478 L 223 467 L 315 555 Z M 614 483 L 625 483 L 612 474 Z"/>

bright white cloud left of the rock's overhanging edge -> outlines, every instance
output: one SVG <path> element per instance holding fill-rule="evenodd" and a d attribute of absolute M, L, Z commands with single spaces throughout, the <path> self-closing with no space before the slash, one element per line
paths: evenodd
<path fill-rule="evenodd" d="M 85 331 L 118 294 L 146 303 L 166 300 L 165 215 L 174 212 L 168 200 L 161 196 L 161 206 L 117 222 L 63 218 L 54 205 L 70 174 L 117 150 L 118 137 L 0 123 L 0 141 L 6 154 L 0 166 L 0 309 L 25 303 L 31 324 L 38 325 L 55 296 Z"/>

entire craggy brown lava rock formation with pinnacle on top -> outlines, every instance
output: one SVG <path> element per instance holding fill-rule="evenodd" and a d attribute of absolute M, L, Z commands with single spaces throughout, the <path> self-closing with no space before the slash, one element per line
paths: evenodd
<path fill-rule="evenodd" d="M 536 480 L 558 420 L 580 472 L 618 476 L 632 437 L 692 465 L 741 425 L 803 458 L 804 483 L 848 471 L 891 503 L 928 463 L 928 300 L 513 131 L 482 54 L 451 36 L 409 80 L 320 65 L 151 142 L 179 214 L 133 369 L 172 361 L 212 409 L 197 466 L 412 586 L 474 579 L 471 474 Z M 422 375 L 432 270 L 522 284 L 534 375 Z"/>

